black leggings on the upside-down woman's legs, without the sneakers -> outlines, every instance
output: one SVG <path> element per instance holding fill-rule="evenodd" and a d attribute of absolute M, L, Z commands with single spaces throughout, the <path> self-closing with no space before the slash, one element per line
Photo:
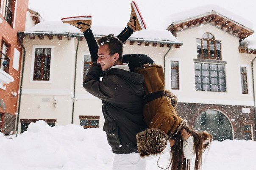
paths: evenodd
<path fill-rule="evenodd" d="M 133 33 L 134 31 L 130 27 L 125 27 L 122 32 L 117 35 L 117 38 L 124 43 Z M 92 33 L 92 30 L 89 28 L 85 32 L 83 32 L 83 35 L 87 41 L 89 51 L 91 54 L 92 62 L 96 62 L 98 59 L 98 49 L 99 46 L 95 40 L 95 37 Z M 124 54 L 122 56 L 122 62 L 127 63 L 130 71 L 134 72 L 134 69 L 136 67 L 142 67 L 144 64 L 151 63 L 153 64 L 153 59 L 151 59 L 149 56 L 145 54 Z"/>

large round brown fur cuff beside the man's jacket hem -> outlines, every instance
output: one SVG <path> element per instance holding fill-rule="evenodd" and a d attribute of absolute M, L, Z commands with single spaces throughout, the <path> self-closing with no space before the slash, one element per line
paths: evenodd
<path fill-rule="evenodd" d="M 154 128 L 139 132 L 136 138 L 139 154 L 143 158 L 151 154 L 161 154 L 168 141 L 164 131 Z"/>

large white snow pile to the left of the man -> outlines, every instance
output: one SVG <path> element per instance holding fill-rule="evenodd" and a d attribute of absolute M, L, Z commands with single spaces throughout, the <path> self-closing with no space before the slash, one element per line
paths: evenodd
<path fill-rule="evenodd" d="M 17 138 L 0 137 L 0 157 L 2 170 L 103 170 L 114 154 L 102 130 L 37 121 Z"/>

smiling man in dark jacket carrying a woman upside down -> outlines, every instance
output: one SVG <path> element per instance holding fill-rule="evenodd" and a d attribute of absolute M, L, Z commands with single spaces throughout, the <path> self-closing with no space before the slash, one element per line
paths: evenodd
<path fill-rule="evenodd" d="M 97 63 L 89 69 L 83 87 L 102 100 L 103 130 L 116 154 L 113 169 L 143 170 L 146 161 L 136 153 L 136 134 L 147 128 L 142 114 L 144 78 L 122 63 L 123 46 L 118 38 L 110 34 L 97 42 Z"/>

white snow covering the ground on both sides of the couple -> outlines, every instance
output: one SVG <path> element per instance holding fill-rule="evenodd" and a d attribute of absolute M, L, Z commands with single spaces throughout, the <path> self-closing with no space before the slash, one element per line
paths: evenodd
<path fill-rule="evenodd" d="M 213 141 L 205 153 L 203 170 L 255 170 L 256 141 Z M 17 138 L 0 133 L 1 170 L 111 170 L 114 154 L 100 128 L 83 129 L 75 124 L 50 127 L 31 123 Z M 166 167 L 169 154 L 162 155 Z M 158 158 L 147 161 L 147 170 L 159 170 Z"/>

